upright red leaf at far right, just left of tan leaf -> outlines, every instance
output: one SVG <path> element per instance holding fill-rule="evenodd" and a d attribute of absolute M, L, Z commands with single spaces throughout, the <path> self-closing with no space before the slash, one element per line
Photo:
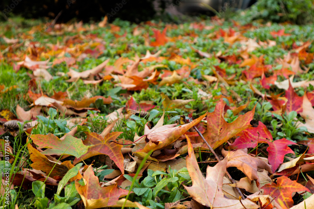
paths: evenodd
<path fill-rule="evenodd" d="M 303 97 L 300 97 L 297 93 L 295 93 L 294 88 L 292 87 L 289 81 L 289 88 L 286 91 L 287 98 L 287 108 L 286 112 L 289 113 L 291 111 L 295 111 L 297 113 L 302 112 L 302 104 L 303 104 Z"/>

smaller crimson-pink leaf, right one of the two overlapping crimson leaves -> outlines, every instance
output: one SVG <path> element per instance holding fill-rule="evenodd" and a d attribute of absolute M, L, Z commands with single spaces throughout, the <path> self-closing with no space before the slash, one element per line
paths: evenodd
<path fill-rule="evenodd" d="M 270 165 L 272 165 L 272 171 L 274 173 L 279 167 L 279 165 L 284 162 L 284 155 L 289 153 L 294 154 L 294 151 L 292 151 L 292 149 L 290 149 L 288 145 L 297 144 L 287 140 L 286 138 L 278 139 L 268 144 L 269 144 L 269 147 L 267 148 L 268 162 Z"/>

